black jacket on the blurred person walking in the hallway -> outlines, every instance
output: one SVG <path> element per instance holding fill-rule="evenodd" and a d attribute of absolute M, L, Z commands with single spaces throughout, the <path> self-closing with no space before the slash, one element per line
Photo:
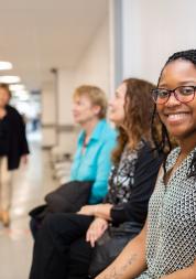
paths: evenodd
<path fill-rule="evenodd" d="M 19 168 L 22 155 L 28 154 L 29 147 L 25 137 L 25 125 L 22 116 L 11 106 L 7 106 L 8 119 L 8 169 L 15 170 Z"/>

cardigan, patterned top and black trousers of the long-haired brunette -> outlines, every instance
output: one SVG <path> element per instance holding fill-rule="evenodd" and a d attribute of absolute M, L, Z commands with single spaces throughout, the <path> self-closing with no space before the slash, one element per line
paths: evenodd
<path fill-rule="evenodd" d="M 134 221 L 142 227 L 162 159 L 144 141 L 138 150 L 124 149 L 106 197 L 113 204 L 112 226 Z M 85 237 L 92 221 L 79 214 L 48 216 L 36 234 L 30 279 L 86 279 L 94 248 Z"/>

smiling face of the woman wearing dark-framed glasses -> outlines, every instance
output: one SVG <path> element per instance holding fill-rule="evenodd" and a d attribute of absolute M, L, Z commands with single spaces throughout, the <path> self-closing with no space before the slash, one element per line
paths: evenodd
<path fill-rule="evenodd" d="M 167 130 L 178 139 L 187 139 L 190 136 L 194 140 L 193 133 L 196 132 L 195 72 L 192 62 L 176 60 L 164 68 L 159 84 L 159 87 L 170 93 L 164 104 L 160 101 L 157 94 L 155 101 L 159 115 Z M 161 90 L 157 88 L 156 92 L 161 93 Z"/>

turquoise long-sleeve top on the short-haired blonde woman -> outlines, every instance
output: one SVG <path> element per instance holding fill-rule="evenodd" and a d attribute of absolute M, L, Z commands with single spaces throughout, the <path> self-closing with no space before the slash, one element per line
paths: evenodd
<path fill-rule="evenodd" d="M 108 176 L 111 168 L 111 150 L 116 146 L 116 131 L 104 119 L 95 127 L 85 153 L 81 153 L 85 131 L 81 131 L 74 162 L 70 180 L 94 181 L 89 204 L 100 203 L 108 191 Z"/>

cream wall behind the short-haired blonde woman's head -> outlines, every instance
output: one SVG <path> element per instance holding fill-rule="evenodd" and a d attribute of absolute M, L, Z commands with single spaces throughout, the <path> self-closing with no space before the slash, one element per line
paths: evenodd
<path fill-rule="evenodd" d="M 58 125 L 73 125 L 72 95 L 77 86 L 92 84 L 109 93 L 108 18 L 89 42 L 74 69 L 59 69 L 57 78 Z"/>

